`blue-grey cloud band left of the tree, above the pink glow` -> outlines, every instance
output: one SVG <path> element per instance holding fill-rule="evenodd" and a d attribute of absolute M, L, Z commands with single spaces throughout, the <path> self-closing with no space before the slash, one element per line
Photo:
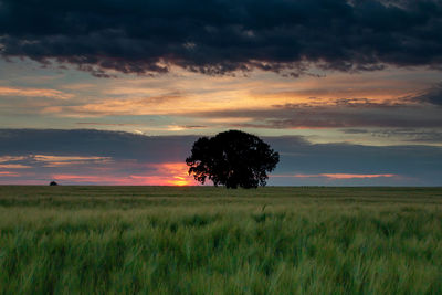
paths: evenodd
<path fill-rule="evenodd" d="M 59 159 L 59 161 L 112 158 L 113 160 L 137 159 L 151 164 L 177 162 L 188 157 L 196 138 L 196 136 L 143 136 L 94 129 L 0 129 L 0 159 L 42 155 L 40 159 Z M 51 158 L 43 155 L 50 155 Z"/>

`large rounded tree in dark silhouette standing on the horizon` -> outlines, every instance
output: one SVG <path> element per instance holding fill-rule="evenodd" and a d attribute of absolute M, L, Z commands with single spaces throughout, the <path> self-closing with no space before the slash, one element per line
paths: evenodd
<path fill-rule="evenodd" d="M 239 130 L 201 137 L 194 141 L 191 152 L 186 159 L 189 175 L 201 183 L 209 179 L 215 187 L 223 185 L 232 189 L 265 186 L 267 172 L 280 161 L 280 154 L 267 144 Z"/>

